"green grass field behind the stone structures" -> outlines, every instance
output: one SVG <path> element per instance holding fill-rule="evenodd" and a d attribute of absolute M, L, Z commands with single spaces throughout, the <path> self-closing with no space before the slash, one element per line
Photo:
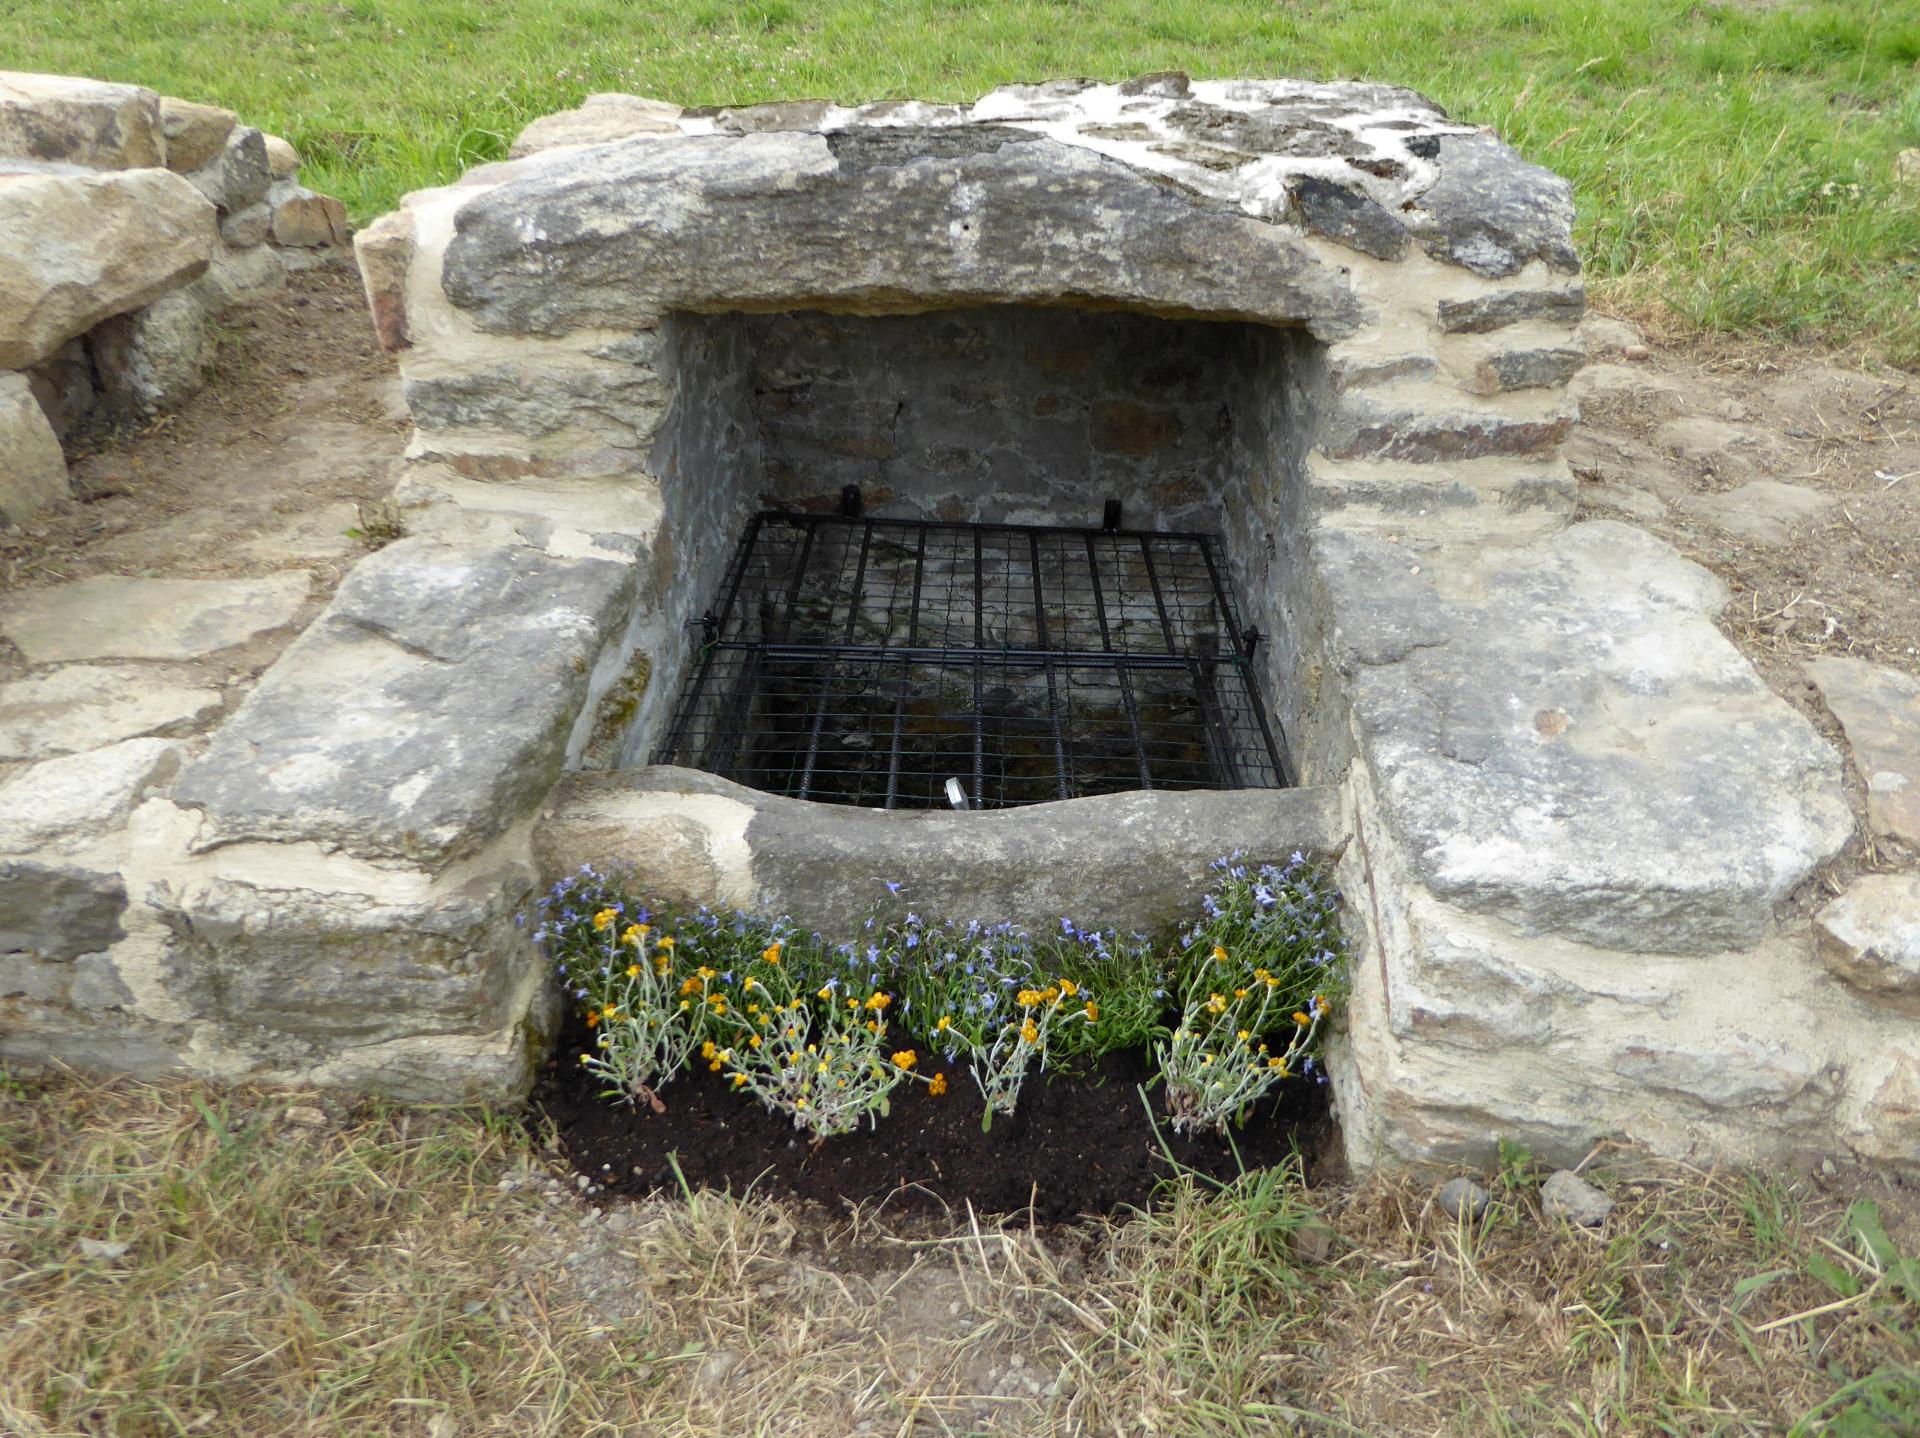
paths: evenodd
<path fill-rule="evenodd" d="M 1569 175 L 1597 296 L 1920 365 L 1920 4 L 1686 0 L 10 0 L 0 67 L 286 134 L 355 217 L 591 90 L 970 98 L 1046 75 L 1409 84 Z"/>

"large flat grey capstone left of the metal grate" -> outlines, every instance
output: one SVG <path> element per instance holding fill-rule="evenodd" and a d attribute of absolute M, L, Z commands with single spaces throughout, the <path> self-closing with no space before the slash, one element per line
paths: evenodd
<path fill-rule="evenodd" d="M 202 847 L 317 841 L 442 862 L 559 778 L 634 566 L 401 539 L 361 561 L 188 766 Z"/>

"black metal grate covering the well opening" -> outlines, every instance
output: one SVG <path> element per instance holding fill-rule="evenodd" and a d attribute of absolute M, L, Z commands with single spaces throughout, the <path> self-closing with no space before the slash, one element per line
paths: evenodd
<path fill-rule="evenodd" d="M 756 515 L 655 762 L 998 808 L 1288 781 L 1200 534 Z"/>

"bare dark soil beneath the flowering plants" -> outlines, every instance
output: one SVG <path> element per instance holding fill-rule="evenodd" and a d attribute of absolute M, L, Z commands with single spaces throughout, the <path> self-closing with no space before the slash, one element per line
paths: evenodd
<path fill-rule="evenodd" d="M 705 1069 L 662 1092 L 664 1114 L 614 1104 L 597 1081 L 564 1058 L 580 1052 L 563 1039 L 561 1056 L 534 1092 L 553 1119 L 572 1165 L 603 1185 L 605 1196 L 641 1198 L 678 1192 L 672 1163 L 693 1188 L 732 1188 L 801 1198 L 839 1211 L 849 1204 L 885 1202 L 889 1211 L 945 1211 L 972 1204 L 979 1213 L 1031 1213 L 1058 1223 L 1081 1213 L 1146 1208 L 1167 1162 L 1227 1179 L 1242 1167 L 1269 1167 L 1296 1148 L 1308 1181 L 1338 1179 L 1338 1129 L 1327 1089 L 1290 1083 L 1231 1142 L 1213 1135 L 1175 1137 L 1162 1121 L 1148 1125 L 1140 1085 L 1154 1117 L 1160 1087 L 1144 1052 L 1108 1054 L 1085 1075 L 1033 1073 L 1012 1119 L 981 1133 L 981 1098 L 966 1067 L 945 1067 L 947 1092 L 927 1085 L 893 1090 L 893 1112 L 876 1129 L 862 1127 L 814 1146 L 787 1119 L 732 1092 Z M 943 1071 L 933 1066 L 927 1073 Z M 672 1160 L 672 1162 L 670 1162 Z"/>

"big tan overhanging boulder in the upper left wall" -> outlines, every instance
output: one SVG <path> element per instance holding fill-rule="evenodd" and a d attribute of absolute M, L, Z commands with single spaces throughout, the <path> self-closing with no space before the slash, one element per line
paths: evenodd
<path fill-rule="evenodd" d="M 0 175 L 0 369 L 27 369 L 200 275 L 215 217 L 163 169 Z"/>

